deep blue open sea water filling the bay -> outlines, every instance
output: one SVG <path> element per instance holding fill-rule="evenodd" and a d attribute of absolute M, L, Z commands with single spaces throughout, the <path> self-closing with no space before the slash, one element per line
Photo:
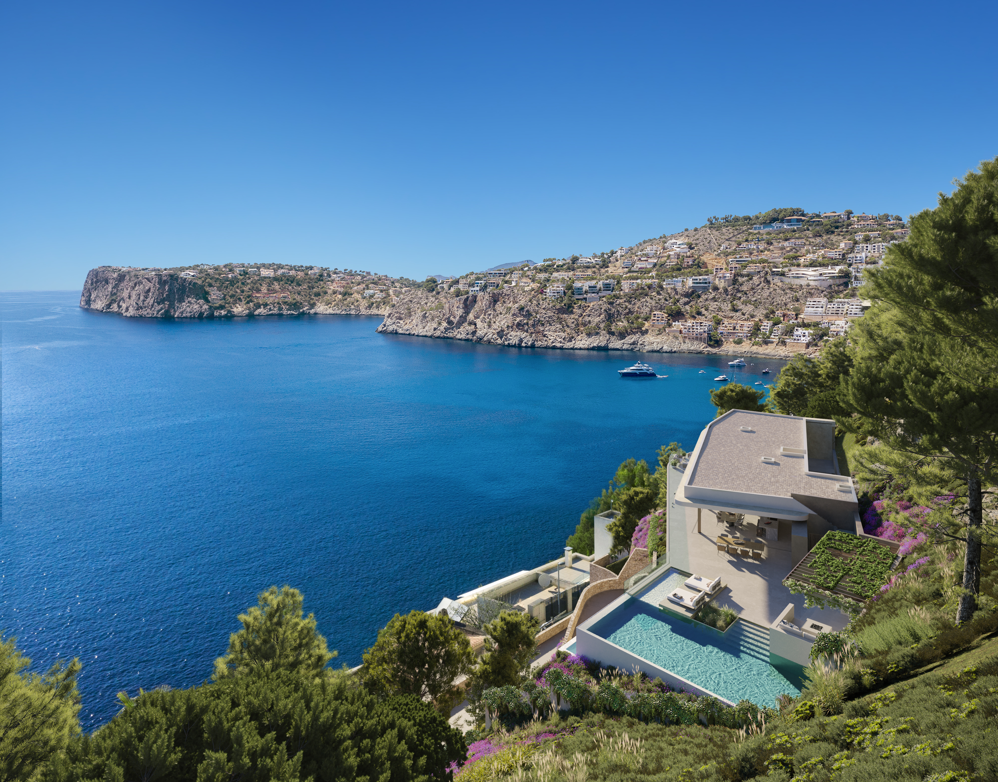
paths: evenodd
<path fill-rule="evenodd" d="M 625 458 L 692 447 L 721 371 L 765 378 L 761 360 L 78 302 L 0 295 L 0 631 L 35 669 L 81 658 L 88 728 L 120 690 L 209 677 L 270 584 L 301 589 L 339 662 L 358 664 L 396 611 L 558 555 Z M 639 359 L 669 378 L 618 378 Z"/>

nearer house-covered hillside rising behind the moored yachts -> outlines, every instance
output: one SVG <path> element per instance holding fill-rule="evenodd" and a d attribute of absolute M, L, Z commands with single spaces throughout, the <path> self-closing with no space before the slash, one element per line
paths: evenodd
<path fill-rule="evenodd" d="M 783 213 L 791 214 L 783 214 Z M 766 220 L 768 218 L 768 220 Z M 899 216 L 770 210 L 591 256 L 439 278 L 383 333 L 496 345 L 785 356 L 845 334 Z M 432 283 L 432 281 L 430 281 Z"/>

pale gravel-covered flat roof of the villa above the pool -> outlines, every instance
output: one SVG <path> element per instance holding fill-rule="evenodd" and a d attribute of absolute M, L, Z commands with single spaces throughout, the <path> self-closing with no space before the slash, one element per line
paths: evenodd
<path fill-rule="evenodd" d="M 721 492 L 733 499 L 741 496 L 758 507 L 785 498 L 774 507 L 789 513 L 807 512 L 792 494 L 854 501 L 851 478 L 831 471 L 834 461 L 806 455 L 807 420 L 796 415 L 731 410 L 711 421 L 686 468 L 681 498 L 696 502 L 721 498 Z M 799 453 L 780 452 L 782 448 Z M 845 483 L 850 484 L 850 490 L 840 488 Z"/>

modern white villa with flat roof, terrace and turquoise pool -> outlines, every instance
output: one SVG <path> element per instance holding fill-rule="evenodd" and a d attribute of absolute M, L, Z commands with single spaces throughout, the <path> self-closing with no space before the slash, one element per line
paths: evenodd
<path fill-rule="evenodd" d="M 597 516 L 594 556 L 562 563 L 569 573 L 582 564 L 588 577 L 570 574 L 571 602 L 559 600 L 544 614 L 538 640 L 548 654 L 539 659 L 559 643 L 731 704 L 771 706 L 781 693 L 797 694 L 814 640 L 849 617 L 805 607 L 784 580 L 791 571 L 806 580 L 808 552 L 832 530 L 875 540 L 888 550 L 887 561 L 898 547 L 863 532 L 852 480 L 839 474 L 834 430 L 832 420 L 747 410 L 708 423 L 693 452 L 669 467 L 667 552 L 638 548 L 621 567 L 608 553 L 606 524 L 615 511 Z M 518 589 L 533 572 L 513 577 Z M 538 615 L 540 605 L 528 603 L 539 596 L 521 610 Z M 708 602 L 733 609 L 738 619 L 724 631 L 702 623 Z"/>

